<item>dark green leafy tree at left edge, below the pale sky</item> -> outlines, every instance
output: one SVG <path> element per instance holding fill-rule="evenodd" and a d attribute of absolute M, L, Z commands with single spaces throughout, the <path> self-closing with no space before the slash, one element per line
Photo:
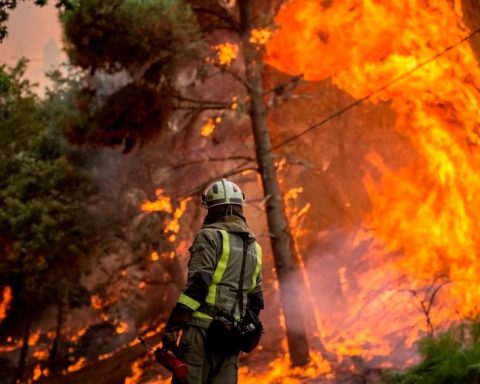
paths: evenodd
<path fill-rule="evenodd" d="M 12 287 L 14 310 L 33 315 L 51 303 L 85 303 L 92 187 L 58 132 L 54 100 L 34 96 L 24 69 L 24 61 L 0 67 L 0 286 Z"/>

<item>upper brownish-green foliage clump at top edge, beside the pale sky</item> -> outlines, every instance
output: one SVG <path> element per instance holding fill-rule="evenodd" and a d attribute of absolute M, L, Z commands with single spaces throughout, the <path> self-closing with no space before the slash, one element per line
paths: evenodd
<path fill-rule="evenodd" d="M 197 40 L 180 0 L 85 0 L 62 17 L 66 50 L 81 68 L 132 73 L 146 63 L 175 64 Z M 157 79 L 158 80 L 158 79 Z"/>

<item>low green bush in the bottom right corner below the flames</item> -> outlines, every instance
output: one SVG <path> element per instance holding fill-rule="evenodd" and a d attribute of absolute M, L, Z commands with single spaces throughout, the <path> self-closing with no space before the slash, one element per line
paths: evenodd
<path fill-rule="evenodd" d="M 422 361 L 405 373 L 391 374 L 390 384 L 480 383 L 480 319 L 467 320 L 419 342 Z"/>

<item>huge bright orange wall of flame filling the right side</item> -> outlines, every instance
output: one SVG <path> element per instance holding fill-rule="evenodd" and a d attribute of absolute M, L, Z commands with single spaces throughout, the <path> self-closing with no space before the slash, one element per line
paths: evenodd
<path fill-rule="evenodd" d="M 268 64 L 292 75 L 302 73 L 307 80 L 331 78 L 356 99 L 468 34 L 459 0 L 291 0 L 275 22 L 280 28 L 266 45 Z M 412 346 L 425 324 L 409 290 L 428 294 L 439 276 L 451 284 L 442 288 L 436 325 L 457 314 L 478 313 L 479 87 L 478 63 L 463 43 L 370 98 L 389 103 L 397 115 L 396 130 L 416 155 L 397 168 L 378 153 L 366 159 L 376 170 L 364 177 L 372 209 L 362 227 L 370 230 L 352 233 L 344 245 L 348 252 L 370 246 L 355 279 L 349 276 L 351 268 L 340 265 L 337 270 L 345 307 L 336 315 L 343 316 L 336 318 L 345 324 L 342 337 L 333 334 L 338 324 L 323 316 L 323 337 L 337 354 L 388 356 L 394 348 L 389 327 L 367 326 L 359 317 L 385 322 L 394 308 L 401 316 L 396 323 L 392 318 L 390 333 L 395 323 L 403 328 L 402 344 Z M 392 286 L 392 281 L 397 283 Z M 407 324 L 411 329 L 405 329 Z"/>

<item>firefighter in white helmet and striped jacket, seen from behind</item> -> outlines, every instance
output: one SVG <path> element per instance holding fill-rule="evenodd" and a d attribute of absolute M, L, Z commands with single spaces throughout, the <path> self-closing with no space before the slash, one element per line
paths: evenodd
<path fill-rule="evenodd" d="M 262 250 L 247 226 L 244 203 L 242 190 L 226 179 L 214 182 L 202 194 L 208 212 L 189 249 L 186 287 L 162 335 L 163 346 L 187 364 L 188 384 L 237 383 L 239 351 L 211 352 L 206 344 L 208 328 L 219 314 L 231 313 L 238 320 L 246 310 L 258 316 L 264 308 Z M 243 313 L 239 296 L 246 303 Z M 180 381 L 174 377 L 172 383 Z"/>

